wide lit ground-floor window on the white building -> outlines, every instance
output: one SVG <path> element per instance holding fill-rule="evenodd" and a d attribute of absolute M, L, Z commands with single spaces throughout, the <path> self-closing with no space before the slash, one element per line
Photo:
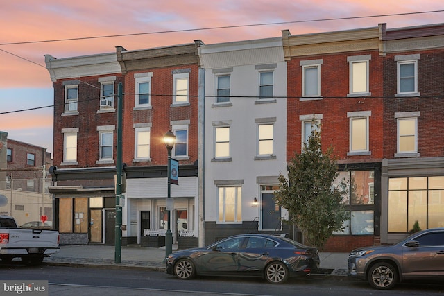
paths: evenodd
<path fill-rule="evenodd" d="M 241 222 L 241 187 L 218 187 L 218 222 Z"/>

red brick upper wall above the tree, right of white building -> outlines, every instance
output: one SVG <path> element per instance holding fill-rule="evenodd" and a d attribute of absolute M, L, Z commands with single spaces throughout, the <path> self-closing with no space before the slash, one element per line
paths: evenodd
<path fill-rule="evenodd" d="M 370 97 L 348 98 L 349 63 L 351 55 L 371 54 L 369 63 Z M 323 59 L 321 64 L 322 100 L 300 101 L 302 96 L 302 67 L 300 60 Z M 292 58 L 287 68 L 287 159 L 301 151 L 301 114 L 323 114 L 321 120 L 321 144 L 323 150 L 334 147 L 334 154 L 350 162 L 370 162 L 381 159 L 382 152 L 382 59 L 377 52 L 341 53 L 336 55 Z M 347 156 L 349 151 L 349 125 L 347 112 L 371 111 L 369 120 L 369 150 L 371 155 Z"/>

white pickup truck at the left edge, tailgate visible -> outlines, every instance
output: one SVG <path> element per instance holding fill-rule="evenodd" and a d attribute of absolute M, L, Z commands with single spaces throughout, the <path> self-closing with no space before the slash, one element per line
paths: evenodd
<path fill-rule="evenodd" d="M 18 228 L 14 218 L 0 215 L 0 259 L 21 258 L 27 265 L 39 265 L 45 256 L 59 252 L 56 230 Z"/>

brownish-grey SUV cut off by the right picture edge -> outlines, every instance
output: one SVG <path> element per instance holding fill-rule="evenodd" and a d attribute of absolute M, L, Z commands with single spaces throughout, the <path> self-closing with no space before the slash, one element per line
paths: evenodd
<path fill-rule="evenodd" d="M 395 245 L 352 250 L 348 275 L 383 290 L 407 279 L 444 279 L 444 228 L 416 232 Z"/>

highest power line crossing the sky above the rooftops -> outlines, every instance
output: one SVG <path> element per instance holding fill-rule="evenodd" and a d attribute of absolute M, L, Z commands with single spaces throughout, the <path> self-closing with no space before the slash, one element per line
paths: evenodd
<path fill-rule="evenodd" d="M 145 32 L 145 33 L 128 33 L 128 34 L 118 34 L 118 35 L 101 35 L 101 36 L 92 36 L 92 37 L 76 37 L 76 38 L 53 39 L 53 40 L 35 40 L 35 41 L 24 41 L 24 42 L 9 42 L 9 43 L 0 43 L 0 46 L 1 45 L 44 43 L 44 42 L 62 42 L 62 41 L 74 41 L 74 40 L 89 40 L 89 39 L 99 39 L 99 38 L 137 36 L 137 35 L 155 35 L 155 34 L 165 34 L 165 33 L 191 32 L 191 31 L 207 31 L 207 30 L 219 30 L 219 29 L 225 29 L 225 28 L 244 28 L 244 27 L 253 27 L 253 26 L 273 26 L 273 25 L 283 25 L 283 24 L 300 24 L 300 23 L 309 23 L 309 22 L 316 22 L 316 21 L 339 21 L 339 20 L 346 20 L 346 19 L 368 19 L 368 18 L 372 18 L 372 17 L 395 17 L 395 16 L 401 16 L 401 15 L 420 15 L 420 14 L 435 13 L 435 12 L 444 12 L 444 10 L 391 13 L 391 14 L 388 14 L 388 15 L 365 15 L 365 16 L 361 16 L 361 17 L 334 17 L 334 18 L 330 18 L 330 19 L 307 19 L 307 20 L 303 20 L 303 21 L 280 21 L 280 22 L 275 22 L 275 23 L 246 24 L 246 25 L 235 25 L 235 26 L 218 26 L 218 27 L 207 27 L 207 28 L 191 28 L 191 29 L 182 29 L 182 30 L 155 31 L 155 32 Z"/>

